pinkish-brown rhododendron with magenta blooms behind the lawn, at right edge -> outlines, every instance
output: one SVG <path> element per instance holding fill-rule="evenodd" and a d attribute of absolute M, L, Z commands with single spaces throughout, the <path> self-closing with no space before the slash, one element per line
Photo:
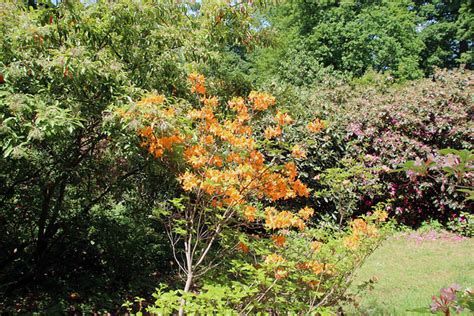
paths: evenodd
<path fill-rule="evenodd" d="M 470 72 L 440 72 L 383 94 L 368 90 L 349 101 L 348 155 L 370 157 L 365 166 L 377 168 L 385 186 L 379 198 L 392 199 L 391 215 L 405 224 L 429 218 L 446 222 L 472 207 L 465 192 L 458 190 L 472 184 L 472 169 L 463 177 L 443 172 L 460 161 L 440 150 L 473 148 L 473 78 Z M 433 162 L 436 167 L 428 166 L 426 174 L 391 172 L 407 161 L 418 167 Z"/>

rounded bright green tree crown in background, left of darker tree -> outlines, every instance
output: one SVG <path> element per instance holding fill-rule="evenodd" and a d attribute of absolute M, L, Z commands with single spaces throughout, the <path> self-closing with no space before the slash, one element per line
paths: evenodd
<path fill-rule="evenodd" d="M 283 13 L 290 18 L 275 19 L 283 23 L 282 29 L 296 25 L 290 28 L 292 40 L 280 74 L 297 84 L 319 81 L 324 68 L 351 76 L 373 68 L 400 78 L 420 77 L 423 42 L 408 5 L 409 1 L 290 2 Z"/>

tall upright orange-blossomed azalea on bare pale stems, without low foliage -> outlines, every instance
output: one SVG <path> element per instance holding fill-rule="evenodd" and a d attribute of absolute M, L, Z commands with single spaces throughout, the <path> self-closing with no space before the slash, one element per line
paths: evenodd
<path fill-rule="evenodd" d="M 298 179 L 295 163 L 268 161 L 257 140 L 256 114 L 273 111 L 275 98 L 252 91 L 246 98 L 223 102 L 207 94 L 203 75 L 192 73 L 188 80 L 194 104 L 151 95 L 119 113 L 136 129 L 140 146 L 176 173 L 183 190 L 183 198 L 175 200 L 166 220 L 175 253 L 185 253 L 184 261 L 175 258 L 188 277 L 185 291 L 192 287 L 194 276 L 206 269 L 209 250 L 217 246 L 216 239 L 230 223 L 304 231 L 314 214 L 308 207 L 293 212 L 261 206 L 261 202 L 268 205 L 310 194 Z M 266 138 L 281 136 L 283 128 L 294 123 L 288 113 L 275 112 L 273 126 L 263 132 Z M 294 145 L 292 155 L 302 159 L 305 151 Z M 278 247 L 285 245 L 283 235 L 271 239 Z M 250 251 L 242 241 L 236 248 Z M 275 256 L 265 258 L 264 263 L 279 262 Z M 286 274 L 277 271 L 275 276 L 282 279 Z"/>

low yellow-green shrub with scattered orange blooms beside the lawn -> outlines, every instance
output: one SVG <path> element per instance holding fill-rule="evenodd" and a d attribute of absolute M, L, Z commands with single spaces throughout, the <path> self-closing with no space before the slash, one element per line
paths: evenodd
<path fill-rule="evenodd" d="M 324 314 L 345 298 L 355 269 L 377 248 L 384 236 L 377 228 L 385 216 L 379 212 L 356 219 L 344 232 L 310 228 L 282 231 L 271 239 L 249 236 L 246 244 L 237 244 L 238 255 L 223 279 L 214 273 L 207 281 L 212 283 L 192 293 L 170 291 L 162 285 L 146 311 L 176 312 L 184 298 L 185 313 Z M 265 260 L 259 262 L 256 257 Z"/>

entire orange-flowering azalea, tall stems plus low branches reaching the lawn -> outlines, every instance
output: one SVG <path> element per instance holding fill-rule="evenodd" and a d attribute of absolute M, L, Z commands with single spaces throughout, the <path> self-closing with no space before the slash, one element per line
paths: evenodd
<path fill-rule="evenodd" d="M 222 271 L 219 266 L 254 289 L 247 293 L 247 301 L 241 298 L 235 303 L 236 309 L 258 310 L 275 303 L 275 310 L 284 310 L 278 302 L 288 299 L 280 294 L 290 285 L 301 293 L 309 291 L 300 302 L 290 300 L 295 310 L 314 310 L 329 303 L 335 290 L 321 300 L 321 293 L 330 289 L 327 280 L 353 271 L 360 258 L 347 256 L 349 266 L 342 268 L 336 263 L 345 262 L 346 255 L 334 256 L 339 250 L 327 250 L 320 258 L 323 243 L 326 249 L 331 242 L 327 236 L 319 241 L 308 229 L 315 210 L 285 209 L 280 203 L 310 195 L 298 179 L 294 161 L 306 156 L 301 144 L 287 144 L 286 159 L 266 156 L 269 139 L 284 142 L 294 120 L 275 109 L 276 100 L 270 94 L 251 92 L 246 98 L 224 102 L 208 94 L 203 75 L 192 73 L 188 81 L 195 97 L 191 101 L 150 95 L 118 113 L 136 131 L 140 146 L 157 164 L 166 166 L 181 186 L 181 192 L 156 211 L 166 222 L 184 283 L 176 292 L 180 299 L 175 309 L 181 314 L 192 308 L 193 299 L 187 293 L 199 291 L 206 278 L 215 279 L 217 271 Z M 254 123 L 264 112 L 272 118 L 262 131 Z M 315 120 L 306 128 L 318 132 L 324 123 Z M 349 241 L 337 239 L 342 253 L 360 249 L 365 240 L 378 236 L 376 226 L 362 219 L 354 221 L 350 231 Z M 369 252 L 360 251 L 362 257 Z M 245 259 L 235 259 L 236 253 Z M 322 282 L 325 285 L 319 286 Z M 312 293 L 316 288 L 320 291 Z"/>

